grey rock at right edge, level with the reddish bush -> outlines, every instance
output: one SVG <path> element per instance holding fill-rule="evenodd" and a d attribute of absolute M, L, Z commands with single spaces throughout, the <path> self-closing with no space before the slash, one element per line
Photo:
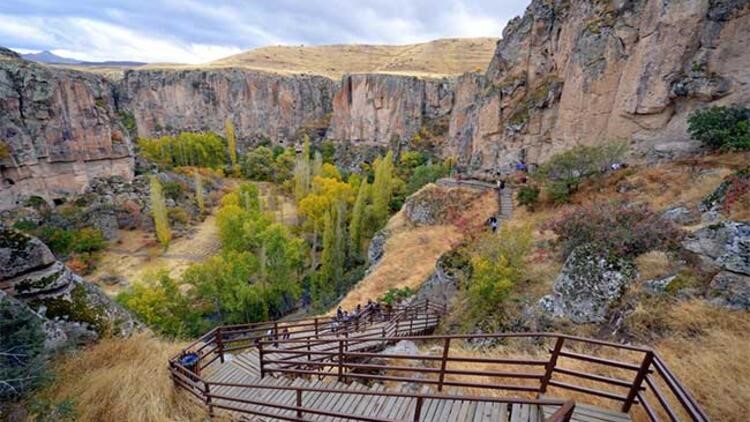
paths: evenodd
<path fill-rule="evenodd" d="M 683 247 L 705 273 L 722 270 L 750 275 L 750 224 L 724 221 L 700 229 Z"/>

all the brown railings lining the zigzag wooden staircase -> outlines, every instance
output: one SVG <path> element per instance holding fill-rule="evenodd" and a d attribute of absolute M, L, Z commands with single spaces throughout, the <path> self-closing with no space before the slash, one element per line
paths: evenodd
<path fill-rule="evenodd" d="M 687 414 L 692 420 L 708 421 L 708 417 L 695 399 L 687 392 L 684 386 L 677 380 L 671 371 L 664 364 L 663 360 L 652 349 L 634 345 L 618 344 L 598 339 L 589 339 L 584 337 L 571 336 L 558 333 L 495 333 L 481 335 L 412 335 L 414 332 L 423 332 L 424 328 L 432 327 L 439 322 L 446 308 L 429 301 L 424 301 L 414 306 L 394 308 L 390 312 L 384 310 L 383 313 L 374 318 L 369 312 L 363 312 L 359 323 L 352 323 L 339 330 L 338 337 L 334 336 L 332 323 L 325 319 L 315 318 L 312 320 L 298 320 L 297 325 L 286 325 L 285 323 L 264 323 L 254 325 L 238 325 L 229 327 L 217 327 L 198 341 L 192 343 L 182 353 L 170 359 L 170 372 L 178 388 L 184 388 L 191 394 L 198 397 L 210 409 L 221 407 L 210 399 L 219 396 L 210 391 L 210 385 L 217 386 L 239 386 L 247 388 L 279 388 L 296 390 L 298 400 L 296 406 L 282 407 L 293 410 L 297 415 L 297 420 L 301 414 L 309 412 L 323 412 L 320 409 L 305 408 L 301 405 L 303 391 L 325 392 L 326 389 L 305 389 L 303 387 L 274 387 L 261 386 L 254 384 L 232 384 L 232 383 L 206 383 L 198 374 L 192 374 L 187 368 L 177 362 L 177 359 L 184 353 L 199 353 L 199 368 L 208 366 L 211 362 L 222 359 L 223 354 L 230 350 L 239 350 L 248 347 L 257 347 L 259 354 L 259 366 L 261 376 L 271 373 L 287 374 L 293 376 L 317 375 L 323 377 L 338 377 L 339 380 L 345 381 L 347 378 L 370 380 L 370 381 L 398 381 L 422 383 L 425 385 L 434 385 L 438 392 L 441 392 L 443 386 L 469 387 L 476 389 L 500 389 L 508 391 L 528 391 L 544 394 L 549 387 L 561 388 L 563 390 L 572 390 L 584 395 L 603 397 L 622 405 L 623 412 L 630 411 L 633 405 L 642 405 L 646 415 L 652 421 L 658 420 L 658 409 L 655 409 L 651 403 L 646 401 L 646 393 L 652 393 L 658 402 L 658 406 L 672 420 L 678 420 L 678 411 Z M 311 321 L 311 322 L 310 322 Z M 374 325 L 378 325 L 373 327 Z M 250 328 L 249 328 L 250 327 Z M 254 328 L 253 328 L 254 327 Z M 263 327 L 263 328 L 260 328 Z M 299 331 L 291 332 L 294 338 L 281 339 L 278 336 L 274 339 L 263 338 L 264 332 L 269 327 L 278 332 L 281 328 L 289 327 L 300 328 Z M 307 329 L 307 327 L 311 327 Z M 369 327 L 369 328 L 368 328 Z M 361 331 L 360 331 L 361 330 Z M 409 330 L 408 332 L 406 330 Z M 256 335 L 253 335 L 256 334 Z M 257 335 L 259 334 L 259 335 Z M 410 334 L 410 335 L 401 335 Z M 549 358 L 541 359 L 509 359 L 509 358 L 492 358 L 492 357 L 474 357 L 460 356 L 451 353 L 451 345 L 457 341 L 466 341 L 471 339 L 544 339 L 554 341 L 554 347 L 551 348 Z M 440 342 L 442 343 L 442 353 L 439 356 L 434 355 L 405 355 L 393 353 L 377 353 L 373 350 L 382 349 L 387 344 L 395 341 L 411 340 L 416 342 Z M 204 343 L 204 344 L 201 344 Z M 632 356 L 640 353 L 641 358 L 637 363 L 628 361 L 613 360 L 595 355 L 581 353 L 580 349 L 574 348 L 566 350 L 573 344 L 593 346 L 593 350 L 600 347 L 625 350 L 634 352 Z M 213 346 L 211 346 L 213 345 Z M 228 346 L 234 345 L 234 346 Z M 361 345 L 361 346 L 358 346 Z M 356 349 L 359 347 L 359 349 Z M 305 360 L 304 358 L 307 357 Z M 420 361 L 418 365 L 382 365 L 367 362 L 371 358 L 382 359 L 401 359 L 407 361 Z M 301 358 L 301 359 L 300 359 Z M 561 358 L 573 359 L 588 362 L 593 365 L 616 368 L 618 370 L 632 371 L 634 377 L 630 380 L 613 378 L 590 373 L 582 370 L 573 370 L 560 366 Z M 424 367 L 422 362 L 430 361 L 438 367 Z M 208 362 L 208 363 L 205 363 Z M 513 371 L 496 371 L 496 370 L 459 370 L 452 369 L 452 362 L 478 363 L 485 365 L 515 365 L 515 366 L 537 366 L 543 367 L 543 372 L 513 372 Z M 205 363 L 205 365 L 202 365 Z M 331 371 L 333 370 L 333 371 Z M 359 373 L 360 370 L 376 370 L 378 375 L 369 375 Z M 398 375 L 389 375 L 388 371 L 399 372 Z M 421 374 L 419 376 L 409 376 L 409 374 Z M 428 376 L 425 377 L 424 375 Z M 406 375 L 406 376 L 405 376 Z M 556 375 L 568 376 L 573 379 L 586 379 L 617 388 L 618 391 L 600 390 L 589 386 L 577 385 L 568 380 L 562 382 Z M 448 376 L 462 376 L 470 379 L 471 377 L 481 377 L 482 382 L 471 382 L 469 380 L 457 381 L 455 379 L 446 379 Z M 432 378 L 430 378 L 432 377 Z M 505 378 L 509 380 L 526 380 L 536 381 L 532 384 L 500 384 L 497 382 L 487 382 L 487 378 Z M 656 381 L 660 381 L 667 386 L 663 390 L 657 386 Z M 203 388 L 203 386 L 206 388 Z M 329 391 L 331 389 L 328 389 Z M 342 394 L 365 394 L 365 395 L 389 395 L 401 394 L 404 397 L 410 397 L 419 400 L 433 398 L 438 395 L 412 394 L 412 393 L 389 393 L 389 392 L 370 392 L 370 391 L 341 391 Z M 456 399 L 457 396 L 450 396 L 450 399 Z M 469 396 L 477 399 L 476 397 Z M 466 400 L 469 400 L 467 398 Z M 481 398 L 479 398 L 481 399 Z M 230 400 L 227 398 L 226 400 Z M 507 402 L 518 403 L 519 399 L 507 399 Z M 540 400 L 540 399 L 537 399 Z M 237 401 L 237 400 L 235 400 Z M 241 401 L 241 400 L 239 400 Z M 480 400 L 481 401 L 481 400 Z M 679 403 L 678 408 L 674 404 Z M 267 403 L 264 406 L 274 407 Z M 572 401 L 558 401 L 560 405 L 555 414 L 548 421 L 560 422 L 569 420 L 575 409 L 575 403 Z M 415 405 L 414 420 L 420 417 L 421 409 Z M 317 413 L 326 415 L 325 412 Z M 328 416 L 334 417 L 354 417 L 361 418 L 361 415 L 340 416 L 331 413 Z M 365 418 L 366 419 L 366 418 Z M 373 418 L 372 420 L 376 420 Z"/>

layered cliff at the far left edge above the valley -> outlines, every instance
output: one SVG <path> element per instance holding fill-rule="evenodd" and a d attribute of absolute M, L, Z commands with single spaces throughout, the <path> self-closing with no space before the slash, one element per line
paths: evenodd
<path fill-rule="evenodd" d="M 28 195 L 80 192 L 93 177 L 132 174 L 111 85 L 0 52 L 0 210 Z"/>

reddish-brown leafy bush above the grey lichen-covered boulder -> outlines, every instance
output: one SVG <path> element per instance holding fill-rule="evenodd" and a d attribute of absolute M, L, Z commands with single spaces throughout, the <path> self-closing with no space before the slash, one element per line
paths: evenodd
<path fill-rule="evenodd" d="M 566 211 L 544 226 L 557 235 L 554 242 L 564 257 L 576 247 L 595 243 L 627 258 L 653 251 L 673 251 L 683 232 L 646 205 L 621 202 L 594 204 Z"/>

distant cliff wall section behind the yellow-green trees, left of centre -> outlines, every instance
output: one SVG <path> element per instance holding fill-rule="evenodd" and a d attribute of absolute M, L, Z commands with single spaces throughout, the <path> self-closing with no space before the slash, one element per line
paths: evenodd
<path fill-rule="evenodd" d="M 125 74 L 120 95 L 138 135 L 180 131 L 224 133 L 231 118 L 240 141 L 285 143 L 331 112 L 336 84 L 321 76 L 282 76 L 256 71 L 138 70 Z"/>

